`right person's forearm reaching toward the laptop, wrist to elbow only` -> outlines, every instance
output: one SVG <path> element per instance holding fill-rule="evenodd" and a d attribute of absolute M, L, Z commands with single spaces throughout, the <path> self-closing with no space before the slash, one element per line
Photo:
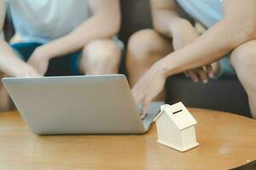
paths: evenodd
<path fill-rule="evenodd" d="M 252 30 L 251 25 L 243 26 L 241 23 L 236 24 L 232 20 L 221 20 L 195 42 L 168 54 L 157 65 L 160 65 L 161 71 L 168 77 L 210 64 L 222 58 L 224 54 L 230 53 L 241 43 L 255 38 Z"/>

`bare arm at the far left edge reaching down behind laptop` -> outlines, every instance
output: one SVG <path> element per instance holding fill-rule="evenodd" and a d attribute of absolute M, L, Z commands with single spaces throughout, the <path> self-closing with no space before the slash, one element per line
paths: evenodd
<path fill-rule="evenodd" d="M 3 22 L 6 13 L 6 2 L 0 0 L 0 32 L 3 31 Z M 29 65 L 21 61 L 8 42 L 0 38 L 0 71 L 11 77 L 39 76 Z"/>

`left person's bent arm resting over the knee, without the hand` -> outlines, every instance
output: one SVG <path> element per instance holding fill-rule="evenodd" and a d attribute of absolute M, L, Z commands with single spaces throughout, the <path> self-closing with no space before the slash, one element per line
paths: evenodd
<path fill-rule="evenodd" d="M 64 37 L 41 47 L 49 59 L 83 48 L 88 42 L 113 37 L 119 31 L 119 0 L 90 0 L 93 15 L 84 24 Z"/>

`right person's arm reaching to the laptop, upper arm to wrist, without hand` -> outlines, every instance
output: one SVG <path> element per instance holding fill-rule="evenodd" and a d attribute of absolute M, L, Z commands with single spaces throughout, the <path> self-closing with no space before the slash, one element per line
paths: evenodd
<path fill-rule="evenodd" d="M 243 42 L 256 38 L 256 2 L 224 0 L 224 20 L 212 26 L 195 42 L 168 54 L 156 65 L 166 77 L 220 59 Z"/>

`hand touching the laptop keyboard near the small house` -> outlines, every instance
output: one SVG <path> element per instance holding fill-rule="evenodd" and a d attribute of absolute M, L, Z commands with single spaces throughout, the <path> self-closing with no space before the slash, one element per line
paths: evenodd
<path fill-rule="evenodd" d="M 155 63 L 131 89 L 137 105 L 140 103 L 143 105 L 143 109 L 141 111 L 142 118 L 147 114 L 149 103 L 155 96 L 160 94 L 165 83 L 166 77 L 161 66 L 160 64 Z"/>

